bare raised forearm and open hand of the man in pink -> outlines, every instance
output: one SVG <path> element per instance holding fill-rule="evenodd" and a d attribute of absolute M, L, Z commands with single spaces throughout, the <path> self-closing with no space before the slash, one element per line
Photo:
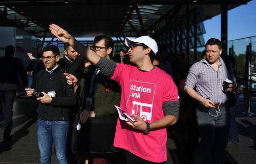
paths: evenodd
<path fill-rule="evenodd" d="M 81 56 L 86 58 L 92 64 L 98 63 L 100 57 L 93 50 L 88 49 L 86 46 L 79 43 L 75 38 L 73 38 L 67 31 L 63 30 L 56 24 L 50 24 L 49 30 L 51 33 L 57 37 L 59 40 L 69 43 Z"/>

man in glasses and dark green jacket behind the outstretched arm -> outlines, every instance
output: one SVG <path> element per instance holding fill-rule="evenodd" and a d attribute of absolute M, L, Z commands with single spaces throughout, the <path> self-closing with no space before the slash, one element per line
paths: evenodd
<path fill-rule="evenodd" d="M 97 36 L 94 38 L 94 45 L 90 49 L 98 54 L 98 56 L 106 59 L 111 56 L 114 48 L 114 43 L 111 37 Z M 84 58 L 83 58 L 84 59 Z M 80 59 L 79 59 L 80 60 Z M 108 59 L 109 60 L 109 59 Z M 82 78 L 79 81 L 71 74 L 67 75 L 68 84 L 74 87 L 74 93 L 79 97 L 79 100 L 84 98 L 84 104 L 81 104 L 83 111 L 80 114 L 80 122 L 86 124 L 89 117 L 91 118 L 106 118 L 117 115 L 115 105 L 120 105 L 120 87 L 116 81 L 109 79 L 90 62 L 86 63 L 86 68 L 83 71 Z M 73 83 L 76 81 L 76 83 Z M 78 85 L 79 83 L 79 85 Z M 90 104 L 90 105 L 88 105 Z M 95 129 L 93 129 L 95 130 Z M 91 133 L 91 131 L 88 131 Z M 107 134 L 106 134 L 107 135 Z M 94 136 L 94 138 L 100 138 Z M 88 141 L 91 142 L 91 141 Z M 113 143 L 112 143 L 113 144 Z M 116 156 L 112 158 L 117 158 Z M 94 158 L 89 156 L 89 163 L 108 163 L 110 159 Z"/>

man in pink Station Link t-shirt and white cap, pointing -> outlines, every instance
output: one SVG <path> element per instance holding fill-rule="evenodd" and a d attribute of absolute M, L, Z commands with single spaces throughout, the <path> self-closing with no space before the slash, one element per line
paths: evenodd
<path fill-rule="evenodd" d="M 50 25 L 50 31 L 118 81 L 120 107 L 137 120 L 117 121 L 114 146 L 125 150 L 126 163 L 165 163 L 166 127 L 177 122 L 179 99 L 172 77 L 152 64 L 158 51 L 155 40 L 148 36 L 126 38 L 131 65 L 124 65 L 99 57 L 55 24 Z"/>

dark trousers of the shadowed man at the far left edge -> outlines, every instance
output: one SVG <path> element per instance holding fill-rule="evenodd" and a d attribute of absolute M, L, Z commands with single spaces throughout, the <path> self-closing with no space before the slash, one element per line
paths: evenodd
<path fill-rule="evenodd" d="M 0 91 L 0 100 L 3 110 L 4 135 L 10 135 L 12 130 L 12 108 L 17 90 Z"/>

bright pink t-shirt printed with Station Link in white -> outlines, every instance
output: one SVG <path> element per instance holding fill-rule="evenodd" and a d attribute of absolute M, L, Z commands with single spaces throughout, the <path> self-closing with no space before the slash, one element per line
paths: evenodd
<path fill-rule="evenodd" d="M 142 117 L 146 122 L 155 122 L 164 117 L 164 102 L 179 101 L 172 77 L 158 67 L 144 72 L 135 66 L 117 63 L 111 79 L 118 81 L 122 89 L 120 107 L 127 113 Z M 143 159 L 166 161 L 166 141 L 166 128 L 144 134 L 123 120 L 117 121 L 114 146 Z"/>

